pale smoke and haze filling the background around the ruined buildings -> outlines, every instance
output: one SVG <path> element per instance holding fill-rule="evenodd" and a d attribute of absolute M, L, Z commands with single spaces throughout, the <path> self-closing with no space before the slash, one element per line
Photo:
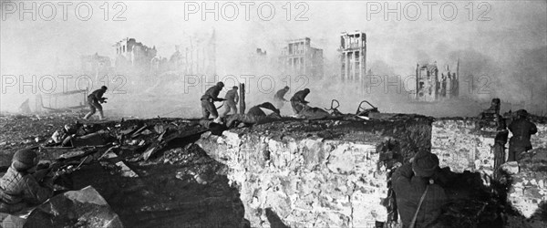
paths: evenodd
<path fill-rule="evenodd" d="M 18 10 L 21 2 L 14 3 Z M 24 4 L 30 7 L 31 3 Z M 195 14 L 188 14 L 189 3 L 199 5 Z M 116 74 L 106 78 L 89 75 L 93 83 L 89 85 L 87 80 L 78 81 L 83 74 L 80 57 L 98 53 L 110 57 L 114 63 L 113 45 L 122 38 L 133 37 L 148 47 L 156 47 L 158 56 L 169 58 L 175 46 L 198 45 L 196 42 L 214 31 L 216 76 L 226 80 L 226 88 L 235 84 L 230 78 L 246 82 L 248 108 L 271 99 L 277 89 L 288 85 L 292 89 L 286 97 L 298 89 L 311 88 L 308 99 L 312 106 L 328 108 L 331 99 L 336 98 L 341 103 L 340 110 L 350 113 L 366 99 L 383 112 L 475 116 L 480 109 L 487 108 L 491 98 L 513 104 L 502 109 L 547 113 L 544 1 L 486 2 L 487 5 L 474 3 L 472 7 L 470 3 L 457 1 L 453 3 L 457 9 L 453 19 L 449 8 L 441 11 L 445 2 L 432 5 L 431 19 L 427 5 L 418 2 L 421 12 L 417 20 L 411 20 L 417 16 L 416 5 L 405 1 L 314 1 L 302 5 L 272 2 L 275 12 L 271 19 L 267 17 L 271 15 L 267 8 L 258 12 L 261 3 L 250 5 L 248 20 L 244 5 L 239 2 L 235 2 L 239 14 L 234 20 L 229 20 L 233 16 L 231 5 L 218 2 L 219 14 L 215 20 L 214 13 L 202 13 L 203 5 L 214 8 L 215 2 L 151 1 L 122 2 L 119 7 L 109 3 L 108 13 L 103 10 L 104 3 L 89 2 L 93 14 L 88 20 L 76 16 L 86 16 L 84 8 L 76 13 L 77 2 L 67 6 L 66 20 L 61 14 L 62 7 L 57 5 L 57 16 L 44 20 L 42 17 L 50 14 L 38 12 L 43 3 L 36 2 L 36 20 L 32 20 L 31 14 L 24 14 L 21 20 L 19 12 L 13 12 L 3 2 L 0 110 L 17 111 L 26 98 L 50 92 L 51 84 L 55 84 L 55 92 L 61 92 L 96 89 L 108 83 L 107 115 L 199 117 L 199 98 L 216 82 L 213 75 L 204 75 L 205 79 L 195 84 L 182 72 L 154 76 L 144 70 L 124 73 L 123 80 L 115 78 Z M 378 5 L 380 8 L 374 8 Z M 399 13 L 387 13 L 390 12 L 387 8 L 396 8 Z M 125 20 L 114 20 L 120 17 Z M 339 36 L 341 32 L 354 30 L 367 36 L 366 68 L 376 78 L 398 81 L 400 88 L 379 84 L 362 90 L 340 81 Z M 311 38 L 312 47 L 324 50 L 323 78 L 282 74 L 277 57 L 286 41 L 304 36 Z M 255 61 L 256 48 L 267 52 L 264 60 Z M 437 61 L 439 68 L 449 65 L 455 70 L 458 59 L 461 98 L 432 104 L 412 100 L 408 91 L 413 88 L 408 78 L 415 74 L 417 63 Z M 31 79 L 33 75 L 36 81 Z M 56 80 L 50 82 L 46 76 Z M 64 80 L 59 76 L 70 78 Z M 197 76 L 202 78 L 203 74 Z M 282 112 L 291 114 L 290 107 L 285 106 Z"/>

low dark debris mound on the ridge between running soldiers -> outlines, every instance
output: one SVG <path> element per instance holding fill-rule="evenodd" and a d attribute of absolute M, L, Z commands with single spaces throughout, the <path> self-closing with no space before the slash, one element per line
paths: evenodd
<path fill-rule="evenodd" d="M 270 113 L 270 115 L 266 115 L 263 109 L 270 110 L 273 113 Z M 245 124 L 254 124 L 254 123 L 260 124 L 272 119 L 281 119 L 281 116 L 279 115 L 279 109 L 275 109 L 274 105 L 270 102 L 264 102 L 260 105 L 254 106 L 253 108 L 249 109 L 247 114 L 235 114 L 228 117 L 226 121 L 226 126 L 228 128 L 232 127 L 232 124 L 235 121 L 240 121 Z"/>

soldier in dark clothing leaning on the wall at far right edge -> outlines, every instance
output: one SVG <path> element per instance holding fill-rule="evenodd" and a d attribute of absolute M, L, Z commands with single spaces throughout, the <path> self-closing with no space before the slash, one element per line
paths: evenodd
<path fill-rule="evenodd" d="M 537 127 L 528 120 L 528 112 L 525 109 L 517 111 L 517 118 L 509 125 L 512 137 L 509 140 L 509 157 L 507 161 L 518 161 L 523 152 L 532 150 L 530 137 L 538 132 Z"/>

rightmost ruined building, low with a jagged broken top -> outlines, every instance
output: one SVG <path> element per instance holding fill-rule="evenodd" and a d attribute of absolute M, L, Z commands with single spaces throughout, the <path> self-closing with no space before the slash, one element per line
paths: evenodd
<path fill-rule="evenodd" d="M 438 101 L 456 98 L 459 95 L 459 60 L 456 72 L 451 72 L 449 65 L 440 73 L 437 62 L 416 65 L 416 94 L 419 101 Z"/>

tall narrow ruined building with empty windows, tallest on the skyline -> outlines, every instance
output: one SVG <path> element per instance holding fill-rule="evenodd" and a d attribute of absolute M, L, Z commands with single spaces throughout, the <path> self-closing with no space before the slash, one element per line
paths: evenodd
<path fill-rule="evenodd" d="M 359 31 L 342 33 L 338 51 L 342 80 L 363 83 L 366 77 L 366 34 Z"/>

